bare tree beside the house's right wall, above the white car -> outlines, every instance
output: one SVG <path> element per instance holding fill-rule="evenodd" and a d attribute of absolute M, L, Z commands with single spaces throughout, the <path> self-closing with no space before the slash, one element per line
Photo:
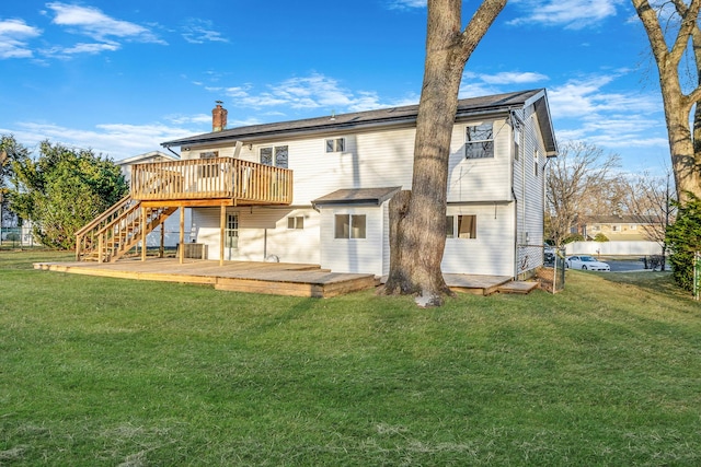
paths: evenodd
<path fill-rule="evenodd" d="M 586 142 L 568 142 L 551 160 L 545 180 L 545 202 L 550 215 L 550 234 L 561 246 L 577 221 L 607 210 L 612 212 L 620 199 L 619 179 L 613 168 L 617 154 L 605 155 L 600 148 Z M 606 196 L 606 194 L 614 194 Z M 606 212 L 606 211 L 605 211 Z"/>

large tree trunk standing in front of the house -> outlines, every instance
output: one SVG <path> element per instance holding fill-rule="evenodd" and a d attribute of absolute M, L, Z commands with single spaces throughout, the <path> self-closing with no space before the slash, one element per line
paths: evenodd
<path fill-rule="evenodd" d="M 384 293 L 417 294 L 443 304 L 450 289 L 440 270 L 446 244 L 450 138 L 464 65 L 506 0 L 484 0 L 461 33 L 461 0 L 428 0 L 424 84 L 418 104 L 412 191 L 390 203 L 391 260 Z"/>

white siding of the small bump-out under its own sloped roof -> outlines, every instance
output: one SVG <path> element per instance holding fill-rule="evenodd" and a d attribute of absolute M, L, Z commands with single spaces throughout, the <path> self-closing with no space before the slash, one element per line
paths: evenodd
<path fill-rule="evenodd" d="M 365 238 L 334 238 L 335 214 L 365 214 Z M 334 272 L 383 273 L 383 209 L 336 207 L 321 210 L 321 267 Z M 389 270 L 389 269 L 388 269 Z"/>

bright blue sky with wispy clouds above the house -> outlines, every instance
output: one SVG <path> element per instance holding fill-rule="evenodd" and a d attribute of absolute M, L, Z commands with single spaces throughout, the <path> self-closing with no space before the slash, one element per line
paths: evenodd
<path fill-rule="evenodd" d="M 479 2 L 463 2 L 463 27 Z M 415 104 L 425 0 L 4 1 L 0 133 L 120 160 L 211 129 Z M 657 72 L 628 0 L 510 0 L 460 97 L 545 87 L 559 143 L 668 165 Z"/>

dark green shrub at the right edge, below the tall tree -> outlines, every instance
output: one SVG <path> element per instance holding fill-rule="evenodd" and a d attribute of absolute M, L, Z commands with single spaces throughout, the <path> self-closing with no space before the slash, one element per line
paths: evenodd
<path fill-rule="evenodd" d="M 675 282 L 690 291 L 693 288 L 693 253 L 701 252 L 701 199 L 689 196 L 685 206 L 677 205 L 679 212 L 675 223 L 667 227 L 667 242 Z"/>

